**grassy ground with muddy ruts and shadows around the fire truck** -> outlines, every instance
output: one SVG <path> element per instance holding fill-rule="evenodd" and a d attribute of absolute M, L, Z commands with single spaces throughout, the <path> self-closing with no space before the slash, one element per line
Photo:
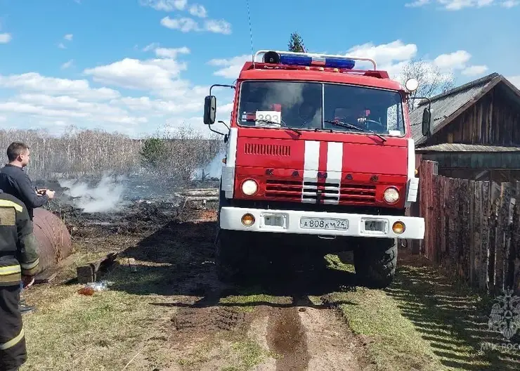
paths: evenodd
<path fill-rule="evenodd" d="M 516 370 L 482 351 L 488 304 L 427 263 L 400 258 L 386 290 L 356 287 L 351 256 L 266 245 L 251 282 L 216 278 L 216 212 L 138 207 L 75 230 L 76 264 L 120 252 L 93 297 L 74 266 L 26 294 L 22 370 Z M 151 210 L 151 211 L 150 211 Z M 117 225 L 116 225 L 117 224 Z M 97 228 L 97 229 L 96 229 Z M 96 232 L 97 231 L 97 232 Z M 258 242 L 261 243 L 261 242 Z M 134 258 L 137 271 L 128 265 Z M 405 260 L 403 260 L 405 259 Z M 457 306 L 453 306 L 456 303 Z M 463 311 L 461 311 L 463 308 Z M 486 340 L 488 339 L 488 340 Z"/>

